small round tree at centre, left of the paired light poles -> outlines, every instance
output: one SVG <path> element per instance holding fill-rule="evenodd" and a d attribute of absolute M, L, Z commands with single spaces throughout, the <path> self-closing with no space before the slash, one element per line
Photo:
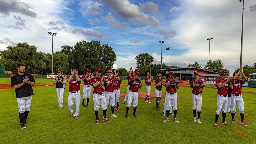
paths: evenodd
<path fill-rule="evenodd" d="M 140 68 L 145 65 L 150 65 L 154 61 L 154 58 L 148 53 L 140 53 L 135 57 L 135 59 L 137 64 L 136 68 Z"/>

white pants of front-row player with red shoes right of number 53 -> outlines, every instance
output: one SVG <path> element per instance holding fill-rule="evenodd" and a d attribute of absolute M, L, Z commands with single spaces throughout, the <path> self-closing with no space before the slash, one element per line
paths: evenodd
<path fill-rule="evenodd" d="M 98 93 L 93 93 L 93 103 L 94 103 L 94 110 L 99 111 L 100 110 L 100 105 L 102 110 L 107 109 L 107 100 L 105 97 L 105 93 L 103 92 L 102 94 Z"/>

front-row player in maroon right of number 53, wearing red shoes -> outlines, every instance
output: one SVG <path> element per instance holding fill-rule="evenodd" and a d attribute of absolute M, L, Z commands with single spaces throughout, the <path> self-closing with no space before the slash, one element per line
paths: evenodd
<path fill-rule="evenodd" d="M 96 69 L 96 76 L 94 76 L 91 79 L 91 85 L 93 86 L 93 103 L 94 103 L 94 113 L 96 116 L 96 124 L 99 124 L 99 110 L 100 105 L 103 110 L 103 121 L 109 122 L 109 120 L 106 117 L 107 114 L 107 101 L 104 93 L 104 81 L 105 81 L 105 75 L 103 77 L 100 77 L 102 73 L 101 68 Z"/>

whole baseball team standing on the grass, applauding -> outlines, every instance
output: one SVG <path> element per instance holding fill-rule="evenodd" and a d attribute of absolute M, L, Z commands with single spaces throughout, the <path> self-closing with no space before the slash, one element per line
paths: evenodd
<path fill-rule="evenodd" d="M 30 73 L 26 73 L 26 64 L 18 63 L 16 65 L 18 73 L 11 77 L 11 86 L 16 92 L 17 104 L 19 108 L 19 118 L 20 118 L 20 129 L 25 129 L 25 124 L 27 123 L 27 117 L 31 106 L 31 100 L 33 89 L 32 85 L 35 85 L 34 77 Z M 64 76 L 61 75 L 61 70 L 56 70 L 58 76 L 53 79 L 53 84 L 55 84 L 57 98 L 59 106 L 57 108 L 63 108 L 63 93 L 65 89 L 66 79 Z M 107 108 L 110 104 L 111 107 L 111 117 L 117 117 L 114 112 L 117 112 L 119 109 L 120 103 L 120 84 L 122 80 L 120 78 L 120 73 L 116 73 L 116 69 L 108 69 L 107 76 L 102 74 L 102 69 L 96 69 L 96 76 L 93 76 L 93 73 L 90 69 L 86 70 L 86 74 L 80 78 L 78 76 L 77 69 L 71 69 L 71 76 L 68 77 L 67 82 L 69 83 L 69 95 L 68 95 L 68 110 L 71 117 L 75 117 L 75 120 L 78 119 L 78 114 L 80 112 L 80 83 L 83 80 L 83 100 L 82 105 L 85 108 L 88 107 L 88 103 L 91 96 L 91 91 L 93 87 L 93 103 L 94 103 L 94 113 L 96 117 L 95 124 L 99 124 L 99 110 L 100 105 L 103 112 L 103 121 L 109 122 L 107 115 Z M 243 79 L 239 79 L 239 74 L 243 75 Z M 231 113 L 232 117 L 232 124 L 236 124 L 234 118 L 236 113 L 236 104 L 238 105 L 240 116 L 241 116 L 241 125 L 247 126 L 244 123 L 244 101 L 242 98 L 242 85 L 247 80 L 246 76 L 242 72 L 242 68 L 239 68 L 238 73 L 233 74 L 233 78 L 227 77 L 226 78 L 226 71 L 221 70 L 220 78 L 215 79 L 214 83 L 218 89 L 217 92 L 217 110 L 215 113 L 215 124 L 214 126 L 219 128 L 218 125 L 218 118 L 220 112 L 222 111 L 222 123 L 224 125 L 229 126 L 226 123 L 226 112 Z M 92 77 L 93 76 L 93 77 Z M 204 82 L 199 77 L 197 72 L 194 72 L 194 80 L 190 82 L 190 87 L 192 88 L 192 110 L 194 115 L 194 122 L 201 124 L 200 121 L 200 114 L 202 110 L 202 92 L 204 88 Z M 164 103 L 164 111 L 163 115 L 166 115 L 166 119 L 164 122 L 169 121 L 169 115 L 174 115 L 173 121 L 179 123 L 177 120 L 177 90 L 179 89 L 180 85 L 179 82 L 175 81 L 175 73 L 172 71 L 168 75 L 168 79 L 164 81 L 161 79 L 161 74 L 156 75 L 155 80 L 155 93 L 156 93 L 156 109 L 160 109 L 160 100 L 162 95 L 162 87 L 166 87 L 166 98 Z M 138 118 L 136 114 L 136 110 L 138 108 L 138 91 L 139 88 L 142 87 L 141 80 L 140 80 L 140 72 L 138 69 L 133 71 L 132 67 L 130 68 L 129 75 L 127 76 L 128 86 L 127 86 L 127 94 L 123 101 L 126 105 L 126 114 L 125 118 L 128 117 L 128 112 L 133 104 L 133 117 Z M 150 73 L 147 73 L 147 77 L 145 78 L 146 83 L 146 90 L 147 95 L 144 102 L 150 102 L 149 95 L 151 89 L 151 82 L 154 82 L 153 76 L 150 76 Z M 230 95 L 230 97 L 229 97 Z M 84 101 L 86 99 L 86 105 Z M 147 101 L 148 99 L 148 101 Z M 116 103 L 115 103 L 116 101 Z M 132 103 L 133 101 L 133 103 Z M 76 111 L 73 114 L 73 105 L 76 105 Z M 231 108 L 230 108 L 231 105 Z M 116 108 L 116 109 L 115 109 Z M 173 114 L 172 114 L 173 109 Z M 197 118 L 196 118 L 196 110 L 197 110 Z"/>

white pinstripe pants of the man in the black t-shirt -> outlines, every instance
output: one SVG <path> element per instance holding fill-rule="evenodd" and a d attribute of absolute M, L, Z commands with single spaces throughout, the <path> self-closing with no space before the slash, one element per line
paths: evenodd
<path fill-rule="evenodd" d="M 19 113 L 30 110 L 32 95 L 28 97 L 17 98 Z"/>

